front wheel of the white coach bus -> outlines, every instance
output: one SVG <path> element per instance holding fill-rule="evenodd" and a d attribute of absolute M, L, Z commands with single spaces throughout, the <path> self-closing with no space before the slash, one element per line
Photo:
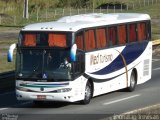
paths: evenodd
<path fill-rule="evenodd" d="M 81 101 L 81 104 L 86 105 L 89 104 L 92 98 L 92 87 L 90 82 L 88 81 L 85 88 L 85 97 L 84 100 Z"/>

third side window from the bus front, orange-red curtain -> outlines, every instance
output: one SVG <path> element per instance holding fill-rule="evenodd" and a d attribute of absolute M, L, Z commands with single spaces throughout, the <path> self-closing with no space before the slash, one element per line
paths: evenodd
<path fill-rule="evenodd" d="M 105 48 L 106 44 L 107 44 L 105 28 L 98 28 L 96 30 L 96 37 L 97 37 L 97 47 L 98 48 Z"/>

